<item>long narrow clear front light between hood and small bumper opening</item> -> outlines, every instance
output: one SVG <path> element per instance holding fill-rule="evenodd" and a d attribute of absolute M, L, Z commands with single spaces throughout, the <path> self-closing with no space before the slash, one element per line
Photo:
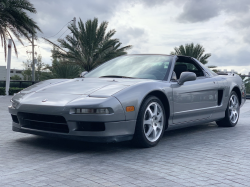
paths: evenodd
<path fill-rule="evenodd" d="M 70 109 L 70 114 L 110 114 L 108 108 L 73 108 Z"/>

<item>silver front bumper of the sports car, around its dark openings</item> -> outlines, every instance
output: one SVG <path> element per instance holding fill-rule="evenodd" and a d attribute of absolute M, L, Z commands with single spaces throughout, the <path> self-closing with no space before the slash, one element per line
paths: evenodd
<path fill-rule="evenodd" d="M 76 100 L 74 100 L 76 101 Z M 51 104 L 39 104 L 32 103 L 22 103 L 17 108 L 9 107 L 9 113 L 15 115 L 18 118 L 18 121 L 13 120 L 12 128 L 13 131 L 24 132 L 29 134 L 49 136 L 49 137 L 62 137 L 62 138 L 71 138 L 79 139 L 90 142 L 118 142 L 131 140 L 135 131 L 136 120 L 126 121 L 124 110 L 119 101 L 115 98 L 110 97 L 107 99 L 94 99 L 94 98 L 84 98 L 82 104 L 78 102 L 70 102 L 67 105 L 62 104 L 59 106 L 57 103 Z M 80 104 L 79 104 L 80 103 Z M 55 106 L 57 104 L 57 106 Z M 70 108 L 78 107 L 93 107 L 94 108 L 105 108 L 112 106 L 114 113 L 112 114 L 70 114 Z M 50 131 L 42 128 L 33 128 L 34 126 L 27 126 L 25 120 L 21 113 L 29 113 L 35 115 L 52 115 L 52 116 L 61 116 L 65 119 L 64 125 L 67 126 L 67 132 L 59 131 Z M 38 117 L 39 117 L 38 116 Z M 43 123 L 43 119 L 33 118 L 38 123 Z M 32 121 L 31 120 L 31 121 Z M 79 130 L 79 122 L 91 122 L 97 123 L 101 122 L 105 125 L 104 130 L 92 131 L 92 130 Z M 51 122 L 47 122 L 51 123 Z M 57 122 L 56 122 L 57 123 Z M 39 124 L 41 127 L 41 124 Z M 36 124 L 35 124 L 36 126 Z"/>

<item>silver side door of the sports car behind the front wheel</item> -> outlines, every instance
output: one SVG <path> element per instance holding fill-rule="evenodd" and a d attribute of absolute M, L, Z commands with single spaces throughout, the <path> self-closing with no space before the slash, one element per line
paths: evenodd
<path fill-rule="evenodd" d="M 194 62 L 192 62 L 194 63 Z M 194 81 L 179 85 L 172 81 L 173 124 L 187 123 L 211 117 L 217 106 L 218 85 L 213 77 L 200 75 Z"/>

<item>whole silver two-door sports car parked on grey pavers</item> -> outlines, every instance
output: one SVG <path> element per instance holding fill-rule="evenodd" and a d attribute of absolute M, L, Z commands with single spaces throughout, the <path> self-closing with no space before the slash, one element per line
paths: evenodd
<path fill-rule="evenodd" d="M 125 55 L 81 75 L 16 94 L 13 130 L 152 147 L 167 129 L 211 121 L 233 127 L 246 100 L 237 74 L 217 75 L 187 56 Z"/>

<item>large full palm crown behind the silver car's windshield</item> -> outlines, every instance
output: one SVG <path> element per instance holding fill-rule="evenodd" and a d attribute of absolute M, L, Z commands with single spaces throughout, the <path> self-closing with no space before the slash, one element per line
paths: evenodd
<path fill-rule="evenodd" d="M 55 57 L 90 71 L 107 60 L 127 54 L 126 50 L 132 47 L 121 47 L 118 39 L 112 39 L 116 31 L 106 33 L 107 26 L 108 22 L 105 21 L 98 26 L 97 18 L 87 20 L 85 24 L 80 19 L 78 28 L 73 25 L 68 27 L 73 36 L 58 39 L 59 45 L 44 39 L 59 49 L 54 52 Z"/>

